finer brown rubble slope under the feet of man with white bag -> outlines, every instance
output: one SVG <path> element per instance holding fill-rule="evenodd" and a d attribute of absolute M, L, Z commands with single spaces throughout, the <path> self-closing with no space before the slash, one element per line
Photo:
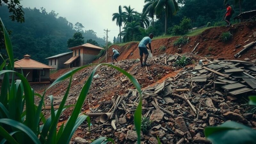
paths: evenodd
<path fill-rule="evenodd" d="M 191 60 L 198 60 L 197 56 L 191 56 L 191 54 L 186 54 Z M 153 59 L 149 59 L 148 63 L 151 64 L 148 68 L 140 67 L 140 60 L 121 60 L 116 62 L 114 65 L 126 70 L 132 76 L 134 76 L 141 87 L 148 86 L 149 84 L 155 83 L 157 80 L 161 79 L 163 76 L 176 70 L 172 64 L 177 60 L 179 55 L 162 54 Z M 79 93 L 87 80 L 94 67 L 87 67 L 79 72 L 77 72 L 72 78 L 72 84 L 69 92 L 69 96 L 66 104 L 75 104 L 79 96 Z M 58 73 L 58 72 L 57 72 Z M 102 66 L 97 69 L 95 78 L 92 81 L 91 88 L 85 100 L 85 104 L 82 110 L 87 110 L 93 106 L 98 105 L 100 101 L 111 100 L 111 97 L 116 94 L 124 94 L 126 88 L 133 88 L 129 79 L 121 74 L 116 69 L 110 68 L 108 66 Z M 56 84 L 47 95 L 53 95 L 53 106 L 58 108 L 63 95 L 66 92 L 68 86 L 68 80 L 65 80 L 59 84 Z M 46 109 L 51 108 L 51 100 L 48 98 L 45 102 L 47 106 Z M 61 120 L 65 120 L 70 112 L 64 112 L 61 116 Z M 49 112 L 46 112 L 49 113 Z"/>

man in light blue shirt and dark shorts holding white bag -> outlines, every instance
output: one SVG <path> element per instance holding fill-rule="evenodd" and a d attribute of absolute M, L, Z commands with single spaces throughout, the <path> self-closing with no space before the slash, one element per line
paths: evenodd
<path fill-rule="evenodd" d="M 149 64 L 146 63 L 147 59 L 148 59 L 148 50 L 150 50 L 150 52 L 152 53 L 152 49 L 151 49 L 151 39 L 154 37 L 154 35 L 151 33 L 149 34 L 149 36 L 144 37 L 139 44 L 139 50 L 140 50 L 140 66 L 144 67 L 144 66 L 150 66 Z M 148 45 L 148 47 L 147 47 Z M 144 58 L 144 62 L 142 63 L 143 60 L 143 53 L 145 54 L 145 58 Z"/>

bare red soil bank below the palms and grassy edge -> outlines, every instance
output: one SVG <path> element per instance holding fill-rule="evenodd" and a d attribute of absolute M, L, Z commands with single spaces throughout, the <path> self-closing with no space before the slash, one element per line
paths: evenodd
<path fill-rule="evenodd" d="M 227 43 L 223 43 L 220 36 L 222 32 L 230 31 L 232 40 Z M 190 36 L 189 43 L 186 45 L 173 46 L 173 42 L 178 38 L 178 36 L 170 38 L 156 39 L 152 41 L 152 50 L 153 55 L 159 55 L 163 53 L 174 54 L 177 52 L 178 48 L 181 48 L 181 53 L 192 52 L 197 43 L 199 43 L 195 52 L 198 52 L 198 55 L 205 57 L 216 57 L 216 58 L 225 58 L 225 59 L 236 59 L 234 54 L 243 49 L 243 45 L 249 44 L 252 41 L 256 40 L 256 37 L 253 36 L 253 32 L 256 31 L 256 22 L 246 22 L 233 25 L 232 27 L 215 27 L 206 29 L 200 35 Z M 246 40 L 248 40 L 245 42 Z M 235 48 L 235 45 L 241 44 L 239 48 Z M 159 51 L 159 47 L 164 45 L 166 50 L 164 52 Z M 124 46 L 113 45 L 109 48 L 108 53 L 112 54 L 112 48 L 118 49 L 120 51 L 120 56 L 118 60 L 125 59 L 137 59 L 139 58 L 138 43 L 131 42 Z M 244 53 L 238 60 L 244 60 L 244 58 L 255 59 L 256 50 L 250 49 Z M 101 60 L 104 59 L 104 60 Z M 105 56 L 101 57 L 98 60 L 95 60 L 93 63 L 98 63 L 99 61 L 105 62 Z M 108 57 L 108 62 L 111 61 L 111 56 Z"/>

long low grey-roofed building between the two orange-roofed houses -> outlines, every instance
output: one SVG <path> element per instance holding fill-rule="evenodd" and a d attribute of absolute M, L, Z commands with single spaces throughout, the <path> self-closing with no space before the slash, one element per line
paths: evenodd
<path fill-rule="evenodd" d="M 73 52 L 65 52 L 65 53 L 51 56 L 46 59 L 48 59 L 49 61 L 49 66 L 54 68 L 52 70 L 59 70 L 59 69 L 65 68 L 64 62 L 69 60 L 72 56 L 73 56 Z"/>

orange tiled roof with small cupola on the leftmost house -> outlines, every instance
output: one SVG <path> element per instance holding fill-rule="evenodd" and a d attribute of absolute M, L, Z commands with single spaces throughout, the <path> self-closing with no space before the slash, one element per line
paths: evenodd
<path fill-rule="evenodd" d="M 26 55 L 25 55 L 26 56 Z M 29 55 L 28 55 L 29 56 Z M 21 59 L 14 62 L 14 68 L 52 68 L 32 59 Z"/>

